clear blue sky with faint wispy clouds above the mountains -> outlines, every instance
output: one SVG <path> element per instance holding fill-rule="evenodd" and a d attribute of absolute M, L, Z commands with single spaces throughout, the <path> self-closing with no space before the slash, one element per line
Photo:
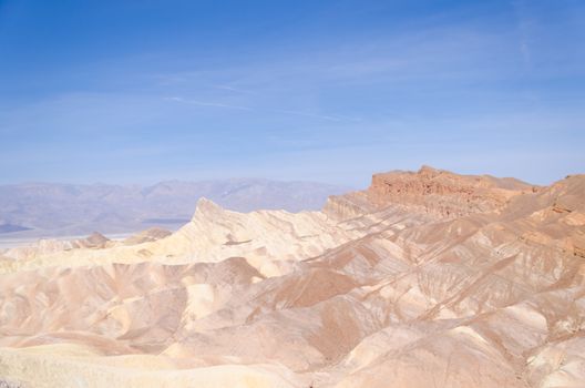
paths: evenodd
<path fill-rule="evenodd" d="M 585 172 L 585 2 L 0 0 L 0 183 Z"/>

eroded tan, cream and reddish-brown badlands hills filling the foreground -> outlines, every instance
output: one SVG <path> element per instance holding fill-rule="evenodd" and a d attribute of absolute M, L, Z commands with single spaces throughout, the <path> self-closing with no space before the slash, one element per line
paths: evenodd
<path fill-rule="evenodd" d="M 585 387 L 585 175 L 423 166 L 320 212 L 0 252 L 0 387 Z"/>

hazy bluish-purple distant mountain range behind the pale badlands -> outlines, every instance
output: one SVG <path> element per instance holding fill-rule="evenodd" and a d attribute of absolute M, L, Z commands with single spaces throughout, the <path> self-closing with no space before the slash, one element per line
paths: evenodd
<path fill-rule="evenodd" d="M 198 198 L 239 212 L 318 210 L 347 187 L 269 180 L 161 182 L 151 186 L 27 183 L 0 185 L 0 234 L 53 237 L 126 233 L 188 222 Z"/>

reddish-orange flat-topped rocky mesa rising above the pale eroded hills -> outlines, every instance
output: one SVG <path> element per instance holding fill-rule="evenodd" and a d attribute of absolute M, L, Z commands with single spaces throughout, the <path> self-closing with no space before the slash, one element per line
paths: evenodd
<path fill-rule="evenodd" d="M 366 193 L 378 207 L 391 203 L 418 205 L 428 213 L 458 217 L 497 212 L 513 196 L 535 191 L 536 186 L 514 178 L 458 175 L 422 166 L 418 172 L 374 174 Z"/>

